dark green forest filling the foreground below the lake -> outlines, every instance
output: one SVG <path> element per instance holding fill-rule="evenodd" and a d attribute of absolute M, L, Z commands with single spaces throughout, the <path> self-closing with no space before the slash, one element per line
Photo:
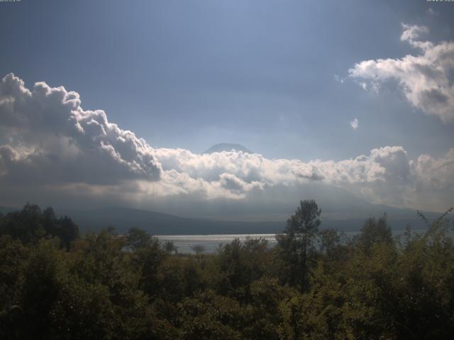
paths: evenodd
<path fill-rule="evenodd" d="M 179 254 L 27 204 L 0 216 L 0 339 L 452 339 L 448 212 L 398 237 L 370 217 L 348 238 L 304 200 L 276 246 Z"/>

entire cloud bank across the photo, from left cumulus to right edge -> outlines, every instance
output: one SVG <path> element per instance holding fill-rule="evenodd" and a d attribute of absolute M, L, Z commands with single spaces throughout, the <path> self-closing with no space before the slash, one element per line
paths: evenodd
<path fill-rule="evenodd" d="M 415 35 L 409 32 L 405 39 Z M 27 89 L 13 74 L 1 80 L 2 203 L 31 200 L 37 193 L 48 200 L 105 199 L 142 207 L 160 200 L 208 206 L 211 200 L 249 204 L 260 198 L 266 209 L 272 201 L 267 193 L 275 196 L 279 188 L 285 197 L 288 188 L 309 184 L 343 188 L 372 203 L 432 210 L 453 203 L 454 149 L 441 158 L 410 159 L 404 147 L 384 146 L 337 162 L 267 159 L 241 151 L 195 154 L 154 148 L 109 122 L 104 111 L 81 105 L 79 94 L 62 86 L 39 82 Z"/>

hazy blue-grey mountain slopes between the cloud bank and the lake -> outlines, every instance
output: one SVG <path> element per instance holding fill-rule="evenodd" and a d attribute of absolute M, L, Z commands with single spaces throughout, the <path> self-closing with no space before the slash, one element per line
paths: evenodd
<path fill-rule="evenodd" d="M 345 195 L 343 191 L 339 191 L 338 194 Z M 319 200 L 317 202 L 319 203 Z M 336 202 L 337 205 L 334 204 Z M 414 229 L 426 227 L 421 218 L 411 209 L 373 205 L 362 200 L 355 201 L 355 204 L 353 204 L 350 200 L 342 200 L 341 197 L 336 195 L 332 196 L 332 201 L 321 200 L 319 206 L 322 208 L 322 229 L 336 228 L 344 231 L 357 231 L 367 217 L 379 217 L 384 212 L 387 212 L 389 216 L 389 224 L 392 229 L 404 229 L 406 225 L 411 225 Z M 287 208 L 289 213 L 282 215 L 279 219 L 274 217 L 273 220 L 267 218 L 267 215 L 262 215 L 262 221 L 253 220 L 252 222 L 228 220 L 228 215 L 223 216 L 222 220 L 215 220 L 178 217 L 162 212 L 130 208 L 55 210 L 57 215 L 70 216 L 82 231 L 99 230 L 112 226 L 116 228 L 117 232 L 126 232 L 131 227 L 140 227 L 151 234 L 266 234 L 281 232 L 289 215 L 294 213 L 294 208 L 296 208 L 296 204 L 292 207 L 292 210 Z M 13 210 L 17 210 L 17 208 L 0 206 L 0 212 L 3 214 Z M 441 215 L 437 212 L 424 213 L 429 220 L 434 220 Z M 260 215 L 255 218 L 260 218 Z"/>

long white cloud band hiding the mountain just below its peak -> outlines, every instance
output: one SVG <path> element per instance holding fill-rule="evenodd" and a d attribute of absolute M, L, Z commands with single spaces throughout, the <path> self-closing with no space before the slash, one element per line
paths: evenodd
<path fill-rule="evenodd" d="M 444 164 L 449 155 L 432 162 Z M 284 192 L 291 188 L 300 188 L 300 193 L 304 193 L 307 185 L 328 185 L 372 203 L 423 208 L 428 203 L 424 200 L 426 193 L 417 189 L 430 185 L 434 192 L 438 191 L 438 199 L 435 194 L 430 198 L 431 208 L 438 206 L 437 210 L 443 210 L 454 200 L 449 186 L 433 187 L 427 183 L 433 181 L 429 172 L 418 171 L 419 161 L 411 159 L 399 146 L 372 149 L 368 155 L 338 162 L 267 159 L 243 152 L 194 154 L 185 149 L 155 149 L 155 157 L 162 165 L 163 175 L 162 181 L 153 183 L 154 195 L 160 195 L 156 191 L 158 186 L 162 186 L 158 191 L 164 195 L 175 193 L 169 187 L 172 183 L 180 190 L 179 195 L 203 200 L 231 198 L 248 202 L 260 191 L 261 197 L 267 193 L 274 195 L 272 188 L 279 188 L 282 193 L 279 197 L 286 200 Z M 453 173 L 453 169 L 447 169 L 438 176 L 448 183 Z M 272 198 L 261 199 L 265 205 Z"/>

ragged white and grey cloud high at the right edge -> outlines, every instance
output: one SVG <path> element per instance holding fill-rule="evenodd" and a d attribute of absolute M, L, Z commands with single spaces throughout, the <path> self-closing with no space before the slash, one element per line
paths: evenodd
<path fill-rule="evenodd" d="M 454 42 L 419 40 L 428 33 L 425 26 L 402 24 L 402 28 L 401 40 L 419 50 L 419 54 L 400 59 L 365 60 L 349 69 L 349 76 L 363 89 L 375 90 L 394 79 L 412 106 L 438 116 L 443 123 L 453 123 Z"/>

